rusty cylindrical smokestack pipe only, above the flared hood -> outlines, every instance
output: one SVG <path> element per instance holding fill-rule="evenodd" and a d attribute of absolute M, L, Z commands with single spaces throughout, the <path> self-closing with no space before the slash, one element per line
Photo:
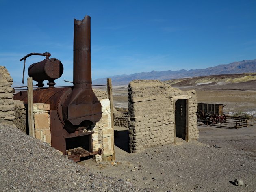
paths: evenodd
<path fill-rule="evenodd" d="M 74 19 L 74 88 L 91 88 L 91 17 Z"/>

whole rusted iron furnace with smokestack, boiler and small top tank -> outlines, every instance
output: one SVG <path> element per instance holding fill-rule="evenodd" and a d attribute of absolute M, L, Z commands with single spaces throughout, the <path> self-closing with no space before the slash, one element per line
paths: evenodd
<path fill-rule="evenodd" d="M 74 19 L 72 87 L 54 87 L 54 80 L 63 73 L 63 65 L 58 59 L 49 59 L 49 53 L 43 56 L 46 59 L 30 65 L 28 74 L 37 81 L 38 86 L 33 91 L 33 102 L 50 104 L 52 147 L 63 154 L 81 146 L 86 149 L 84 153 L 81 152 L 82 156 L 100 153 L 100 149 L 98 152 L 92 151 L 91 125 L 100 120 L 102 111 L 91 86 L 91 17 L 85 16 L 81 21 Z M 44 80 L 49 81 L 49 88 L 42 88 Z M 17 93 L 14 99 L 27 103 L 27 91 Z M 88 131 L 84 132 L 84 129 Z M 73 157 L 76 155 L 73 154 Z"/>

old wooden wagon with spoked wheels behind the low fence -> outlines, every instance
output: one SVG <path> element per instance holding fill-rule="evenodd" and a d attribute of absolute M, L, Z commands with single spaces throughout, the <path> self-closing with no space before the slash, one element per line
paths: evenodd
<path fill-rule="evenodd" d="M 223 104 L 204 104 L 197 105 L 197 121 L 203 123 L 212 122 L 214 124 L 226 122 L 226 115 L 223 113 Z"/>

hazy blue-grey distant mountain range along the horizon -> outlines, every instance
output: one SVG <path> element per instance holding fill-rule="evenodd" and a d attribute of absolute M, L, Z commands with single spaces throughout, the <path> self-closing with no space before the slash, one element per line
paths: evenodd
<path fill-rule="evenodd" d="M 220 74 L 240 74 L 240 73 L 255 73 L 256 72 L 256 59 L 243 60 L 233 62 L 226 65 L 217 65 L 215 67 L 208 67 L 206 69 L 191 69 L 189 71 L 182 69 L 179 71 L 151 71 L 134 73 L 130 75 L 116 75 L 108 78 L 112 79 L 113 85 L 127 85 L 130 81 L 135 79 L 158 79 L 158 80 L 171 80 L 179 78 L 191 78 L 198 76 L 220 75 Z M 93 80 L 93 85 L 105 84 L 106 78 Z"/>

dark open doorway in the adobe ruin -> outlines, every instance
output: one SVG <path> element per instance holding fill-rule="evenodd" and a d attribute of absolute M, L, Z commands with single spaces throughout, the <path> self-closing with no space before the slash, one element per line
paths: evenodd
<path fill-rule="evenodd" d="M 175 136 L 186 140 L 187 125 L 187 99 L 179 99 L 175 101 Z"/>

